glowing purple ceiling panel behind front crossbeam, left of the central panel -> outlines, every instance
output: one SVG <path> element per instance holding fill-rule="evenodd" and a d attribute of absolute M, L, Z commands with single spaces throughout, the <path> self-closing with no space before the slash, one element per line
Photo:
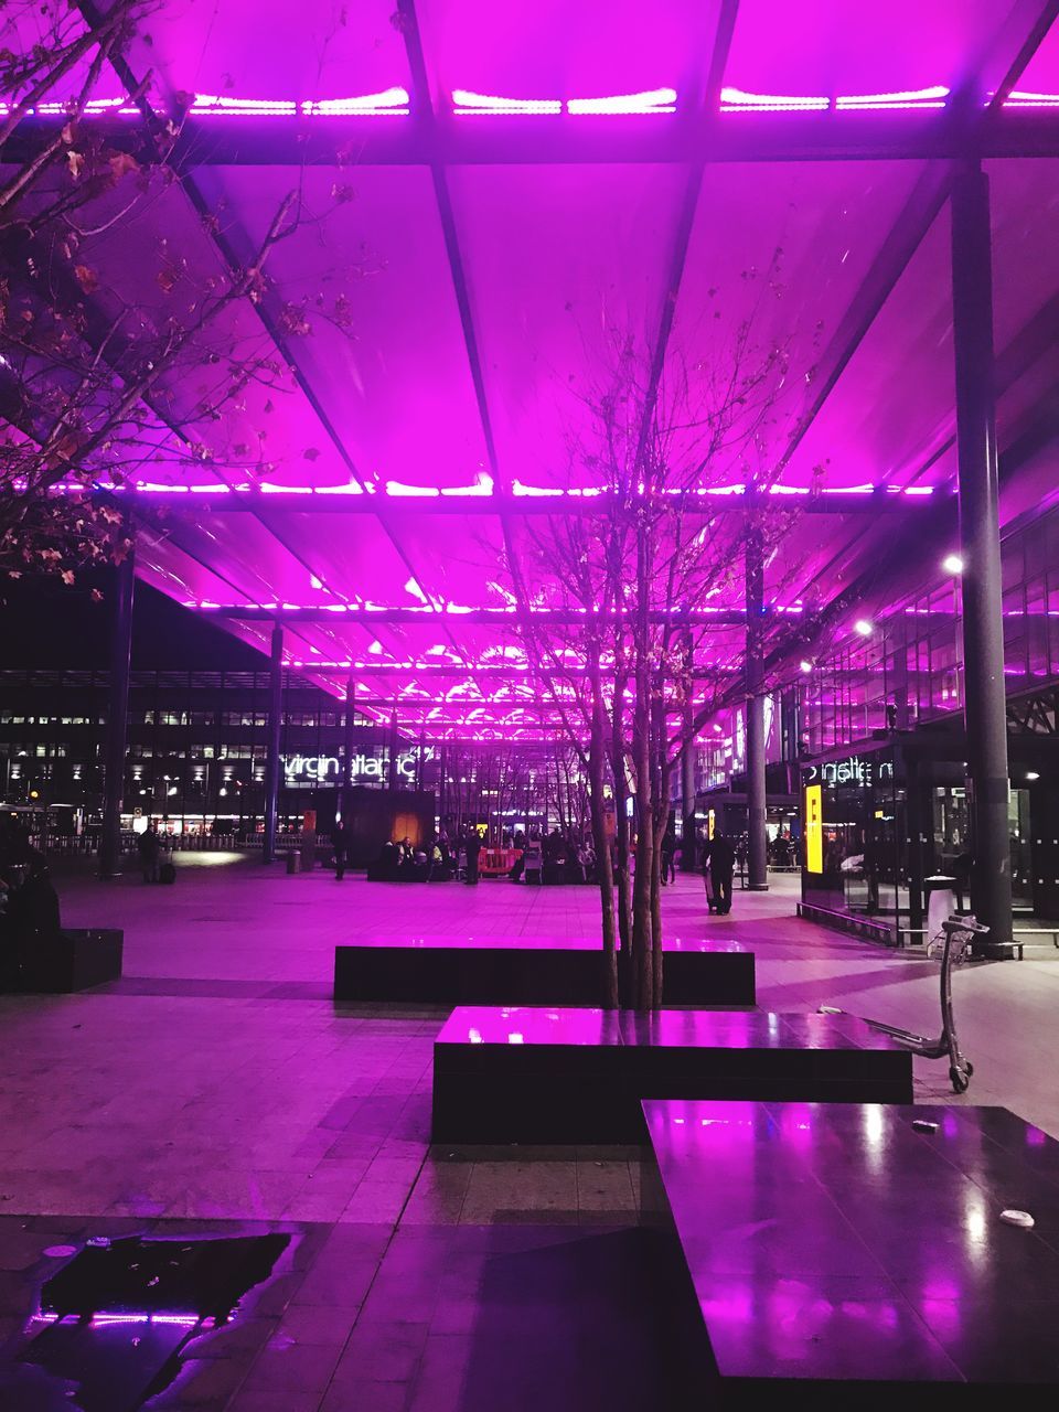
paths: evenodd
<path fill-rule="evenodd" d="M 429 174 L 415 167 L 210 168 L 212 201 L 239 213 L 250 250 L 284 191 L 304 184 L 305 226 L 270 260 L 280 297 L 306 301 L 312 332 L 289 346 L 359 476 L 402 491 L 481 491 L 486 445 Z M 319 216 L 321 219 L 316 219 Z M 316 306 L 316 298 L 323 299 Z M 302 462 L 302 483 L 330 453 Z M 284 477 L 277 477 L 284 479 Z"/>

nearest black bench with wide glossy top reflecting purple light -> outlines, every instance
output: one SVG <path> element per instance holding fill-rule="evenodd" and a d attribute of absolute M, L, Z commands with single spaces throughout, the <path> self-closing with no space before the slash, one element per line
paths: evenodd
<path fill-rule="evenodd" d="M 648 1100 L 644 1115 L 645 1214 L 675 1228 L 703 1384 L 722 1382 L 703 1406 L 803 1392 L 789 1405 L 933 1412 L 1003 1405 L 1008 1387 L 1019 1408 L 1055 1405 L 1059 1142 L 1039 1128 L 971 1107 Z"/>

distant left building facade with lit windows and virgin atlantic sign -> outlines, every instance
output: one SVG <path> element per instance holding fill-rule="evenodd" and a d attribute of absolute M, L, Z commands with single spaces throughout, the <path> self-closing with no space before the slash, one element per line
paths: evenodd
<path fill-rule="evenodd" d="M 109 674 L 0 672 L 4 802 L 48 808 L 62 832 L 97 832 L 104 792 Z M 176 833 L 253 836 L 264 818 L 268 674 L 136 671 L 128 695 L 123 827 L 152 818 Z M 297 674 L 284 682 L 280 813 L 294 825 L 311 795 L 340 781 L 346 707 Z M 391 734 L 354 710 L 354 784 L 391 782 Z M 432 786 L 436 768 L 400 740 L 397 788 Z"/>

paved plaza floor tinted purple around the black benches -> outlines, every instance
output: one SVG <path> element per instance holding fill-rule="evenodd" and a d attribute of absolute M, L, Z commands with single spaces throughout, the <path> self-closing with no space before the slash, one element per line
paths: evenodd
<path fill-rule="evenodd" d="M 709 918 L 700 881 L 679 878 L 665 895 L 668 935 L 750 946 L 762 1008 L 827 1003 L 936 1029 L 936 966 L 798 921 L 795 887 L 737 892 L 730 916 Z M 0 998 L 0 1344 L 20 1333 L 27 1281 L 59 1237 L 265 1223 L 299 1234 L 289 1268 L 247 1317 L 193 1346 L 152 1405 L 528 1406 L 551 1395 L 541 1370 L 514 1354 L 504 1370 L 497 1350 L 573 1312 L 587 1320 L 586 1348 L 609 1320 L 640 1330 L 623 1340 L 640 1361 L 618 1364 L 606 1405 L 647 1405 L 637 1378 L 654 1372 L 635 1310 L 586 1305 L 587 1267 L 569 1258 L 580 1231 L 603 1289 L 655 1258 L 631 1234 L 637 1152 L 432 1151 L 443 1012 L 336 1008 L 329 988 L 335 945 L 357 935 L 593 933 L 592 888 L 336 882 L 209 854 L 175 887 L 131 874 L 61 888 L 68 925 L 124 928 L 124 979 Z M 1003 1104 L 1059 1137 L 1052 955 L 956 973 L 974 1079 L 953 1100 L 946 1066 L 918 1060 L 919 1099 Z M 497 1380 L 513 1368 L 504 1401 Z M 573 1401 L 558 1405 L 596 1405 L 578 1404 L 573 1364 L 563 1377 Z"/>

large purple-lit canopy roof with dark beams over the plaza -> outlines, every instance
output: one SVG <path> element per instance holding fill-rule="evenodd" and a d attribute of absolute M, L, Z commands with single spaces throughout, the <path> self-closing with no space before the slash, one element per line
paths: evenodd
<path fill-rule="evenodd" d="M 696 513 L 737 511 L 764 467 L 806 513 L 774 606 L 911 590 L 956 538 L 946 196 L 967 158 L 993 188 L 1005 517 L 1056 480 L 1056 8 L 175 0 L 120 75 L 151 72 L 147 117 L 97 120 L 182 116 L 185 179 L 140 220 L 150 258 L 121 225 L 93 239 L 99 298 L 160 305 L 161 241 L 201 274 L 253 258 L 288 191 L 329 215 L 213 333 L 275 345 L 281 394 L 250 388 L 222 431 L 193 378 L 169 390 L 157 474 L 121 491 L 138 572 L 251 641 L 282 616 L 291 664 L 408 730 L 532 738 L 554 719 L 504 546 L 593 513 L 572 448 L 616 330 L 666 387 L 750 325 L 785 349 L 782 388 L 760 465 L 713 465 Z M 342 316 L 305 333 L 291 309 L 318 289 Z M 716 604 L 719 641 L 740 607 Z"/>

